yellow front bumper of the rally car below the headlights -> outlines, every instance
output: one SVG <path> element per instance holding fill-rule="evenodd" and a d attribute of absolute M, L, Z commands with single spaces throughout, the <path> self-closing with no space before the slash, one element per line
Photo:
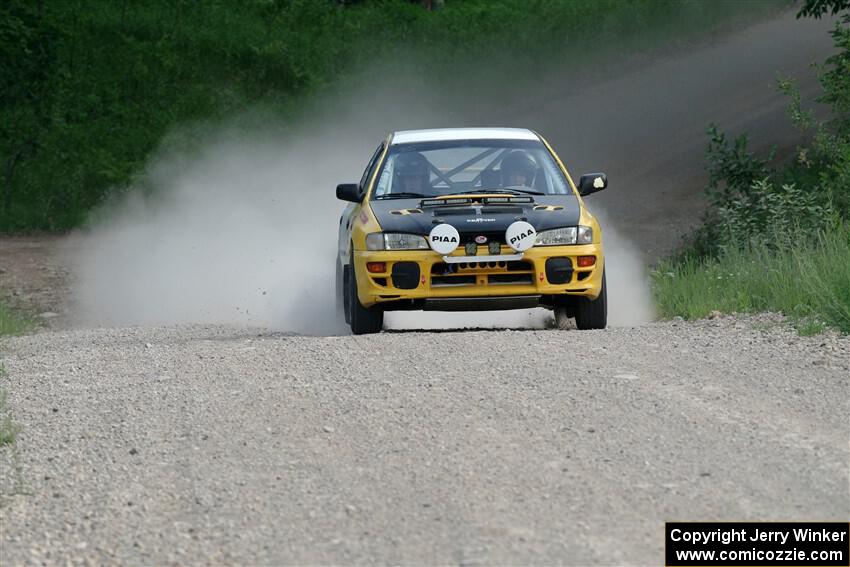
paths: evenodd
<path fill-rule="evenodd" d="M 466 256 L 461 248 L 446 258 L 433 250 L 357 250 L 358 298 L 365 307 L 474 310 L 529 307 L 550 296 L 595 299 L 601 292 L 601 244 L 538 246 L 517 256 L 506 246 L 498 256 Z M 594 264 L 579 266 L 579 257 L 593 257 Z"/>

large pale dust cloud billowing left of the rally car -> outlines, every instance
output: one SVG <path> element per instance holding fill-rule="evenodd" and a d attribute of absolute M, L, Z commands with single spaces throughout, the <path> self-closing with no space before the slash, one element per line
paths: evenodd
<path fill-rule="evenodd" d="M 79 322 L 344 332 L 334 187 L 359 178 L 377 139 L 329 135 L 231 125 L 200 151 L 157 155 L 142 176 L 150 189 L 130 187 L 69 246 Z"/>

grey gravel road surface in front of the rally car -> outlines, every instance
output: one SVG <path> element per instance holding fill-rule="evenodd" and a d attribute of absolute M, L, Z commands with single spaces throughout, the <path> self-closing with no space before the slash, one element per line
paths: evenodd
<path fill-rule="evenodd" d="M 769 316 L 2 351 L 4 565 L 658 565 L 665 520 L 850 516 L 850 338 Z"/>

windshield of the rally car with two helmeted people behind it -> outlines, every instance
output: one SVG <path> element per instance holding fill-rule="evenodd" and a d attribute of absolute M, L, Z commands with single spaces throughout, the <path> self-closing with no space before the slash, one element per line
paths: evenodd
<path fill-rule="evenodd" d="M 390 147 L 375 199 L 458 193 L 569 195 L 552 155 L 533 140 L 452 140 Z"/>

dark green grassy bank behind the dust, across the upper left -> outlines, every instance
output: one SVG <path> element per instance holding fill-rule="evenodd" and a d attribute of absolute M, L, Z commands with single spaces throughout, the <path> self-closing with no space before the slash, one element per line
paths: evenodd
<path fill-rule="evenodd" d="M 292 117 L 366 68 L 533 76 L 783 3 L 0 0 L 0 232 L 78 226 L 176 127 L 254 104 Z"/>

